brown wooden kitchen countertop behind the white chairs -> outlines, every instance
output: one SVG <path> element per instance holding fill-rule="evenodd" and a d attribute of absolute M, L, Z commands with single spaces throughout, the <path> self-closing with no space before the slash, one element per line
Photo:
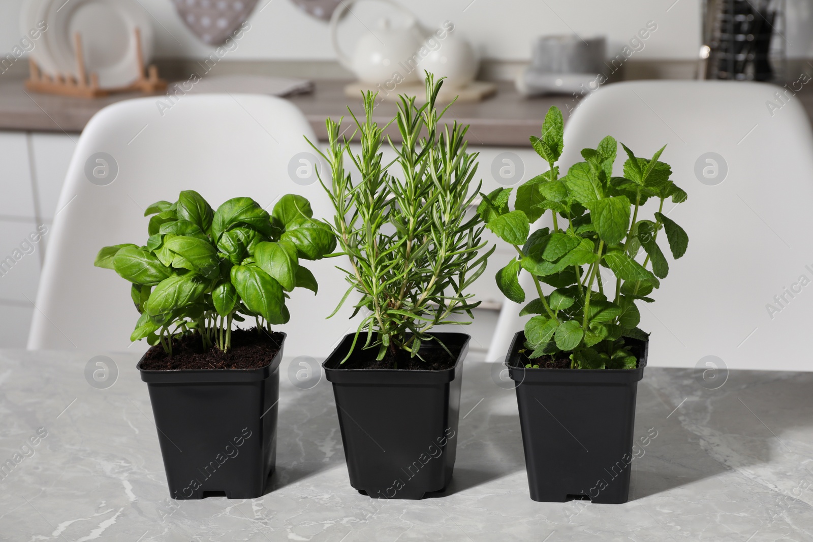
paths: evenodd
<path fill-rule="evenodd" d="M 346 98 L 345 81 L 317 80 L 315 91 L 289 98 L 311 123 L 317 137 L 324 139 L 324 120 L 331 116 L 347 116 L 347 106 L 359 113 L 361 98 Z M 67 98 L 31 93 L 24 89 L 23 80 L 0 77 L 0 130 L 29 132 L 81 132 L 89 119 L 102 107 L 143 94 L 117 94 L 107 98 Z M 525 99 L 516 93 L 513 84 L 501 82 L 498 93 L 483 102 L 455 103 L 447 118 L 470 124 L 472 145 L 529 146 L 528 137 L 540 131 L 542 119 L 552 105 L 566 110 L 567 97 Z M 395 114 L 395 104 L 382 102 L 376 107 L 380 120 L 388 122 Z M 393 127 L 390 127 L 393 128 Z M 388 132 L 394 135 L 394 132 Z"/>

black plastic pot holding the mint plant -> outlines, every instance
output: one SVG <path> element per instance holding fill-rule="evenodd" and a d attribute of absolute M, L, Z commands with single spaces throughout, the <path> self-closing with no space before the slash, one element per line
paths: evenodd
<path fill-rule="evenodd" d="M 526 369 L 518 352 L 525 333 L 514 336 L 506 366 L 516 383 L 534 501 L 627 502 L 635 398 L 649 342 L 626 341 L 636 369 Z"/>

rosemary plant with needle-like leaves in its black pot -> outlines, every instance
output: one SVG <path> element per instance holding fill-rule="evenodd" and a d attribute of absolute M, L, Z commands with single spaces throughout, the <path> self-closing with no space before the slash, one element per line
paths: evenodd
<path fill-rule="evenodd" d="M 441 85 L 428 76 L 423 106 L 400 97 L 391 122 L 402 143 L 389 141 L 393 163 L 383 163 L 376 94 L 365 93 L 365 116 L 353 117 L 360 154 L 341 138 L 341 121 L 327 121 L 323 156 L 332 180 L 323 186 L 349 260 L 342 269 L 350 284 L 345 300 L 358 292 L 356 312 L 365 314 L 323 366 L 333 383 L 350 484 L 374 498 L 420 499 L 451 479 L 469 336 L 433 330 L 471 322 L 459 315 L 472 318 L 479 302 L 465 291 L 493 252 L 482 254 L 485 227 L 467 213 L 479 191 L 472 189 L 477 154 L 467 152 L 467 126 L 440 124 Z M 346 171 L 346 157 L 358 178 Z"/>

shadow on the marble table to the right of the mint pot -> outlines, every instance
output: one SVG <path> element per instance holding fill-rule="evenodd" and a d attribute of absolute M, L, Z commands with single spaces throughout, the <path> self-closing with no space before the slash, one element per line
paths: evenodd
<path fill-rule="evenodd" d="M 784 431 L 813 426 L 811 374 L 731 371 L 723 388 L 699 393 L 696 376 L 660 369 L 639 384 L 635 435 L 651 427 L 658 436 L 633 461 L 630 501 L 772 462 L 777 449 L 789 451 Z M 667 392 L 687 397 L 672 414 L 664 409 Z"/>

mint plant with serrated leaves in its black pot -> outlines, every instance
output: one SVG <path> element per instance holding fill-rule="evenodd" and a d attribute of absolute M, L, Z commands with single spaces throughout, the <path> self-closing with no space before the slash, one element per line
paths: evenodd
<path fill-rule="evenodd" d="M 667 198 L 684 202 L 686 193 L 659 162 L 663 148 L 646 159 L 622 145 L 624 176 L 613 176 L 618 144 L 612 137 L 582 150 L 585 161 L 559 176 L 563 119 L 556 107 L 531 142 L 550 170 L 517 189 L 514 209 L 511 189 L 484 194 L 478 207 L 488 228 L 517 252 L 498 271 L 499 288 L 511 301 L 527 301 L 520 315 L 533 314 L 506 356 L 531 498 L 623 503 L 649 344 L 637 327 L 637 303 L 654 301 L 650 295 L 669 271 L 659 232 L 673 258 L 686 251 L 688 236 L 663 213 Z M 645 204 L 654 211 L 651 219 L 642 217 Z M 548 211 L 553 228 L 530 232 Z M 528 299 L 522 272 L 533 280 Z"/>

